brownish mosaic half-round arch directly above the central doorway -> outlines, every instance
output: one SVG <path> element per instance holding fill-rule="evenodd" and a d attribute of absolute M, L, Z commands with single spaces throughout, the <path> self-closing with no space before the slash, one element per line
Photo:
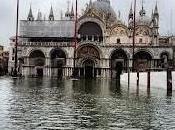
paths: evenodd
<path fill-rule="evenodd" d="M 102 57 L 101 50 L 93 44 L 84 44 L 76 50 L 76 57 L 79 58 L 94 58 L 100 59 Z"/>

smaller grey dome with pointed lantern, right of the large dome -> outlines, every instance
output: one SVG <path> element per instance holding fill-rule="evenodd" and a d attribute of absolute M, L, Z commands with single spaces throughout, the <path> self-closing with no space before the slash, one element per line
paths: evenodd
<path fill-rule="evenodd" d="M 147 25 L 151 23 L 151 18 L 146 15 L 146 11 L 143 9 L 139 12 L 139 17 L 136 18 L 136 25 Z"/>

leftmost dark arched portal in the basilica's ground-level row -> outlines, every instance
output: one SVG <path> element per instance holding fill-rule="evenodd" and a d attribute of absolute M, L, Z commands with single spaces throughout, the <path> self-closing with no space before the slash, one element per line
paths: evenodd
<path fill-rule="evenodd" d="M 43 77 L 43 68 L 45 65 L 45 55 L 40 50 L 34 50 L 29 55 L 29 65 L 36 68 L 35 75 Z"/>

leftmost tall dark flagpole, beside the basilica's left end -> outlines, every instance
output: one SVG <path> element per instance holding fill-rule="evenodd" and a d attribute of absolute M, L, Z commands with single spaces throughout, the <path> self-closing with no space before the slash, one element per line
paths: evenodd
<path fill-rule="evenodd" d="M 16 39 L 15 39 L 15 68 L 13 76 L 17 77 L 17 64 L 18 64 L 18 23 L 19 23 L 19 0 L 17 0 L 17 11 L 16 11 Z"/>

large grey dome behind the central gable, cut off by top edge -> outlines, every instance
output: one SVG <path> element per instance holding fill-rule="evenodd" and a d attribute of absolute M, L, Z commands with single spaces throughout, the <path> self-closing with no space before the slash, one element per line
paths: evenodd
<path fill-rule="evenodd" d="M 116 13 L 110 5 L 110 0 L 97 0 L 92 3 L 92 8 L 95 9 L 98 13 L 104 14 L 105 17 L 109 17 L 110 21 L 116 21 Z"/>

